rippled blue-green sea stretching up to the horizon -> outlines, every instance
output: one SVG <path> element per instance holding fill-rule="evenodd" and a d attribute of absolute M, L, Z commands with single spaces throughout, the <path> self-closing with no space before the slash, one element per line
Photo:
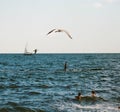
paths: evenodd
<path fill-rule="evenodd" d="M 79 92 L 83 99 L 76 100 Z M 0 112 L 120 112 L 118 107 L 119 53 L 0 54 Z"/>

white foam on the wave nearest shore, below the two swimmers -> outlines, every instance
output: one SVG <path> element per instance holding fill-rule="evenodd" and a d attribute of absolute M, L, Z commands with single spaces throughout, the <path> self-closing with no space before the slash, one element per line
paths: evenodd
<path fill-rule="evenodd" d="M 59 111 L 66 112 L 120 112 L 110 104 L 81 105 L 73 102 L 59 102 L 54 105 Z"/>

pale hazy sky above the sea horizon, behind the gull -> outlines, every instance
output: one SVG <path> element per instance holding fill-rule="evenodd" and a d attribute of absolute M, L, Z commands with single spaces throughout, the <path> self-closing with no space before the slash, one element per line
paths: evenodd
<path fill-rule="evenodd" d="M 46 34 L 54 29 L 65 33 Z M 120 0 L 0 0 L 0 53 L 120 53 Z"/>

